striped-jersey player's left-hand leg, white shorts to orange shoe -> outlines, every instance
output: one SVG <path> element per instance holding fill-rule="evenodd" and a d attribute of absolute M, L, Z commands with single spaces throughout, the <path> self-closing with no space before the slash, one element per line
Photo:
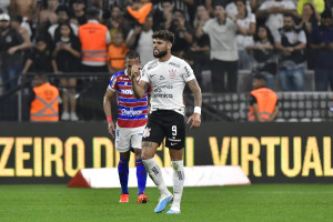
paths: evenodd
<path fill-rule="evenodd" d="M 129 161 L 130 161 L 130 133 L 128 129 L 117 125 L 115 130 L 115 150 L 120 154 L 118 163 L 118 174 L 121 185 L 121 196 L 119 202 L 129 202 Z"/>

